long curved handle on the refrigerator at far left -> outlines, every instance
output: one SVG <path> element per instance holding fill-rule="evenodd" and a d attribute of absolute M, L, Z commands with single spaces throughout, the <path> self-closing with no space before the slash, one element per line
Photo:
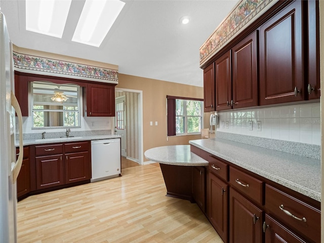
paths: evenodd
<path fill-rule="evenodd" d="M 21 109 L 18 103 L 18 100 L 16 96 L 14 95 L 13 92 L 11 92 L 11 105 L 14 107 L 17 113 L 18 117 L 18 123 L 19 123 L 19 155 L 18 159 L 12 169 L 12 174 L 13 174 L 13 183 L 16 182 L 21 164 L 22 164 L 22 158 L 23 158 L 23 153 L 24 153 L 24 147 L 23 147 L 23 142 L 22 142 L 22 115 L 21 115 Z"/>

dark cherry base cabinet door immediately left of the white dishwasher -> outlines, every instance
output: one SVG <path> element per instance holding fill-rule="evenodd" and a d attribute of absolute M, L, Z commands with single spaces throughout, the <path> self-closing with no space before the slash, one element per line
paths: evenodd
<path fill-rule="evenodd" d="M 90 180 L 91 161 L 88 152 L 65 155 L 65 184 Z"/>

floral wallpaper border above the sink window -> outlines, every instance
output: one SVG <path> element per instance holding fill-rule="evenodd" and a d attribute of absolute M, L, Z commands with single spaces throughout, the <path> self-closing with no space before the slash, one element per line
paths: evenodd
<path fill-rule="evenodd" d="M 13 52 L 14 66 L 19 69 L 94 78 L 118 83 L 118 70 L 105 69 L 73 62 L 36 57 Z M 99 81 L 98 80 L 98 81 Z M 100 81 L 99 81 L 100 82 Z"/>

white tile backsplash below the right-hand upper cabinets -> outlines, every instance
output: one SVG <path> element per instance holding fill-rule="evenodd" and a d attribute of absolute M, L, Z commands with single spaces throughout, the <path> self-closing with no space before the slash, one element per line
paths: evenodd
<path fill-rule="evenodd" d="M 279 139 L 308 144 L 320 144 L 319 103 L 231 110 L 219 112 L 218 131 Z M 229 127 L 222 127 L 228 121 Z M 250 131 L 249 121 L 253 123 Z M 257 131 L 257 121 L 261 121 L 261 131 Z"/>

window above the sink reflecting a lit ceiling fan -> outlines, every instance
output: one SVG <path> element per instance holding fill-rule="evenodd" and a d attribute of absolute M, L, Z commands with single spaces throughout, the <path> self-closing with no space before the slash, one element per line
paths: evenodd
<path fill-rule="evenodd" d="M 32 82 L 33 128 L 79 127 L 79 93 L 77 85 Z"/>

